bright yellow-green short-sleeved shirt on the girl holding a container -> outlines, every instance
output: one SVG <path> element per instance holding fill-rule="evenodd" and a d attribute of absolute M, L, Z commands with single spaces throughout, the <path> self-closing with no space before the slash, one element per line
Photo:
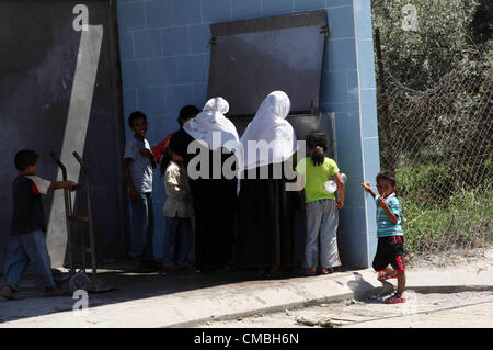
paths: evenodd
<path fill-rule="evenodd" d="M 316 167 L 310 157 L 303 158 L 296 166 L 296 171 L 305 176 L 305 203 L 335 200 L 334 193 L 326 192 L 323 187 L 325 181 L 339 172 L 333 159 L 325 157 L 323 163 Z"/>

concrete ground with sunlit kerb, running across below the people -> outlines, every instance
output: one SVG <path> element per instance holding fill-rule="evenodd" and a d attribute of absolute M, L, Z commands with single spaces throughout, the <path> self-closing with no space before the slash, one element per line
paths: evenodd
<path fill-rule="evenodd" d="M 188 269 L 167 274 L 139 274 L 124 272 L 117 267 L 102 270 L 98 275 L 104 285 L 114 286 L 116 290 L 107 293 L 90 293 L 88 308 L 82 308 L 83 296 L 82 298 L 80 295 L 74 298 L 72 295 L 44 297 L 32 279 L 24 279 L 20 292 L 24 300 L 13 302 L 0 300 L 0 328 L 202 327 L 214 326 L 214 321 L 228 319 L 236 320 L 233 327 L 255 327 L 238 321 L 238 318 L 246 319 L 249 316 L 276 312 L 286 313 L 286 309 L 293 315 L 295 315 L 294 311 L 297 311 L 299 314 L 296 315 L 303 317 L 301 312 L 310 309 L 307 306 L 321 304 L 330 305 L 319 306 L 324 308 L 324 317 L 328 315 L 328 309 L 331 311 L 329 317 L 346 319 L 351 317 L 337 313 L 351 309 L 368 313 L 366 316 L 360 316 L 363 318 L 359 318 L 359 323 L 356 323 L 357 317 L 353 317 L 352 325 L 370 327 L 374 324 L 364 320 L 382 318 L 383 316 L 379 313 L 382 306 L 388 305 L 377 304 L 378 298 L 372 303 L 355 302 L 349 305 L 345 305 L 344 301 L 371 301 L 371 297 L 391 293 L 395 283 L 395 280 L 390 280 L 391 283 L 377 281 L 376 273 L 371 269 L 346 270 L 331 275 L 311 278 L 286 276 L 279 280 L 260 280 L 254 273 L 248 271 L 197 274 L 195 270 Z M 488 293 L 493 292 L 493 264 L 488 260 L 479 269 L 467 271 L 467 273 L 454 267 L 449 270 L 409 270 L 408 291 L 414 293 L 482 292 L 486 293 L 483 294 L 484 301 L 488 298 L 491 301 L 492 295 Z M 427 300 L 422 298 L 421 294 L 415 295 L 419 301 Z M 422 325 L 426 325 L 426 314 L 419 313 L 424 311 L 420 307 L 425 304 L 408 303 L 405 307 L 413 309 L 413 305 L 417 305 L 417 308 L 414 308 L 417 314 L 411 317 L 424 317 Z M 492 315 L 488 313 L 488 305 L 479 302 L 475 305 L 478 312 L 486 313 L 484 315 L 486 323 L 489 315 Z M 389 311 L 387 316 L 400 313 L 402 307 L 387 308 Z M 438 313 L 434 314 L 438 315 Z M 312 316 L 305 314 L 309 320 L 310 317 L 313 319 L 314 316 Z M 490 317 L 493 318 L 493 316 Z"/>

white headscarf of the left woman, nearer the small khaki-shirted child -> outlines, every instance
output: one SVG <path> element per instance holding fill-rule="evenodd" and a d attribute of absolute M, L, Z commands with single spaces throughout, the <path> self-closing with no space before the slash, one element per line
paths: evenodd
<path fill-rule="evenodd" d="M 226 147 L 230 151 L 238 149 L 240 137 L 234 124 L 225 114 L 229 111 L 229 103 L 222 98 L 214 98 L 207 101 L 203 112 L 183 125 L 193 138 L 207 144 L 210 150 Z M 213 134 L 214 133 L 214 134 Z M 218 134 L 216 134 L 218 133 Z M 214 135 L 216 140 L 214 143 Z M 236 145 L 236 146 L 234 146 Z"/>

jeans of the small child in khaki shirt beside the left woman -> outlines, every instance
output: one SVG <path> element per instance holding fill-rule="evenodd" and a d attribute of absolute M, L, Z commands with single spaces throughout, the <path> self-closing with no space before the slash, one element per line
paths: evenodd
<path fill-rule="evenodd" d="M 192 246 L 193 232 L 190 217 L 167 217 L 164 235 L 164 267 L 184 266 Z"/>

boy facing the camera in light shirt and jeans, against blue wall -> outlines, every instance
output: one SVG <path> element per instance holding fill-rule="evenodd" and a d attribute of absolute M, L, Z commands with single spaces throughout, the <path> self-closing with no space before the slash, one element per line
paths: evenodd
<path fill-rule="evenodd" d="M 136 272 L 153 271 L 152 236 L 154 230 L 152 208 L 152 169 L 156 168 L 154 154 L 149 147 L 146 133 L 146 114 L 133 112 L 128 124 L 134 132 L 125 146 L 124 174 L 130 199 L 130 251 Z"/>

